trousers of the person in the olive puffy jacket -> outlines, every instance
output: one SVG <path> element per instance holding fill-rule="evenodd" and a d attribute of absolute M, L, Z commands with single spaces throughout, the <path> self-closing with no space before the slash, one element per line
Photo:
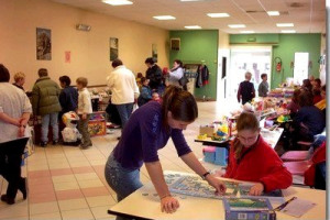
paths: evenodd
<path fill-rule="evenodd" d="M 42 116 L 42 142 L 48 142 L 48 128 L 50 122 L 53 129 L 53 141 L 58 141 L 58 112 Z"/>

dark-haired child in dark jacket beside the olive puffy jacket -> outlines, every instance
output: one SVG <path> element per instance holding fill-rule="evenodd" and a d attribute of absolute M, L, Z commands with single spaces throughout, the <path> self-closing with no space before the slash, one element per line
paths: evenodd
<path fill-rule="evenodd" d="M 62 116 L 68 111 L 76 111 L 78 105 L 78 91 L 70 86 L 72 79 L 68 76 L 59 77 L 59 85 L 63 88 L 59 94 L 59 103 L 62 111 L 59 113 L 59 119 Z"/>

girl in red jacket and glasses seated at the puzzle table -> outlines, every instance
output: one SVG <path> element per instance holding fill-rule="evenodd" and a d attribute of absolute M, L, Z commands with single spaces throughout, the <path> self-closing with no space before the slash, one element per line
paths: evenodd
<path fill-rule="evenodd" d="M 237 122 L 238 135 L 231 144 L 227 173 L 223 176 L 256 182 L 250 190 L 251 196 L 284 189 L 293 183 L 292 174 L 260 135 L 258 124 L 253 113 L 241 113 Z"/>

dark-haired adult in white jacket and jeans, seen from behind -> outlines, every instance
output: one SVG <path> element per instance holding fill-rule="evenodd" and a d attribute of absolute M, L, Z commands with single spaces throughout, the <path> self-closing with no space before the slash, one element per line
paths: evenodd
<path fill-rule="evenodd" d="M 123 129 L 140 91 L 134 74 L 123 65 L 121 59 L 114 59 L 111 65 L 114 69 L 107 77 L 107 85 L 112 91 L 111 102 L 118 109 Z"/>

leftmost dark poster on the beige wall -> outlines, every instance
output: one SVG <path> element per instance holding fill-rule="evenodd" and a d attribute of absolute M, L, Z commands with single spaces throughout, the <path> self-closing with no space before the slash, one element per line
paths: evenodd
<path fill-rule="evenodd" d="M 52 32 L 36 28 L 36 59 L 52 61 Z"/>

